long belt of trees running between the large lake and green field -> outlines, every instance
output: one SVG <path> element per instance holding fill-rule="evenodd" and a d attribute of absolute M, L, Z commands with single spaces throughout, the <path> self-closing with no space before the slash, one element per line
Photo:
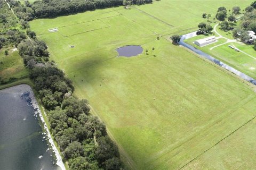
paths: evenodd
<path fill-rule="evenodd" d="M 0 5 L 5 4 L 2 0 L 0 2 Z M 17 5 L 17 2 L 11 5 Z M 16 7 L 19 7 L 19 3 Z M 15 23 L 22 25 L 24 22 L 26 27 L 22 26 L 20 30 L 6 29 L 5 32 L 12 37 L 17 31 L 23 33 L 21 39 L 7 39 L 13 39 L 29 70 L 38 102 L 45 108 L 50 131 L 60 147 L 63 160 L 68 162 L 70 169 L 123 169 L 118 147 L 109 138 L 105 124 L 90 113 L 87 100 L 73 95 L 73 83 L 54 61 L 50 61 L 47 45 L 37 39 L 29 24 L 23 19 Z"/>

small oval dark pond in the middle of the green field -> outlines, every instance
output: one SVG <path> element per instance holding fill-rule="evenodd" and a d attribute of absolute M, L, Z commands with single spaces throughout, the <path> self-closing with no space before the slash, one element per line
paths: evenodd
<path fill-rule="evenodd" d="M 143 48 L 141 46 L 124 46 L 116 49 L 118 52 L 118 56 L 132 57 L 137 56 L 143 52 Z"/>

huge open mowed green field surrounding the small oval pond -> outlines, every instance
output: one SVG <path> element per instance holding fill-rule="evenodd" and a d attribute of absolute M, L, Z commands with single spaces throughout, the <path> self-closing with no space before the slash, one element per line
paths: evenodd
<path fill-rule="evenodd" d="M 245 160 L 255 159 L 255 150 L 244 147 L 256 146 L 254 87 L 166 39 L 195 31 L 203 12 L 251 2 L 162 0 L 38 19 L 30 27 L 73 80 L 75 94 L 106 123 L 127 168 L 253 169 Z M 125 45 L 144 51 L 117 57 Z"/>

